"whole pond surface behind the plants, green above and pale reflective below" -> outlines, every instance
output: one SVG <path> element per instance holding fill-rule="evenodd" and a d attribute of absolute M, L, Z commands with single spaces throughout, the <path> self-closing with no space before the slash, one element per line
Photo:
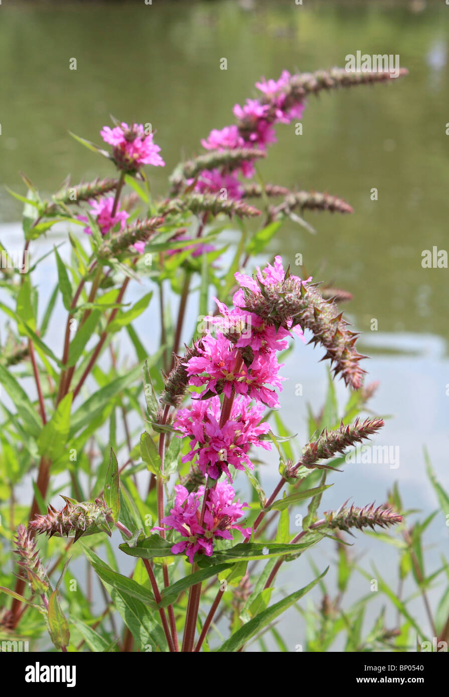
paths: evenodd
<path fill-rule="evenodd" d="M 425 478 L 423 445 L 441 483 L 449 486 L 449 272 L 421 264 L 423 250 L 449 248 L 448 12 L 443 3 L 297 6 L 250 0 L 1 8 L 0 183 L 21 192 L 19 171 L 43 194 L 54 192 L 68 172 L 74 183 L 112 174 L 106 160 L 68 135 L 70 130 L 100 141 L 98 132 L 109 123 L 109 114 L 151 122 L 157 130 L 167 166 L 151 171 L 151 185 L 162 195 L 176 163 L 199 153 L 199 140 L 212 128 L 232 123 L 234 103 L 254 95 L 261 75 L 344 66 L 345 56 L 358 50 L 399 54 L 400 66 L 409 68 L 409 76 L 394 84 L 310 98 L 303 135 L 295 134 L 293 124 L 279 127 L 278 142 L 260 166 L 266 181 L 328 190 L 354 208 L 346 216 L 309 213 L 314 235 L 286 224 L 269 249 L 292 265 L 302 254 L 307 275 L 353 293 L 344 309 L 365 332 L 360 346 L 372 357 L 370 379 L 380 381 L 370 406 L 391 415 L 376 444 L 399 448 L 398 467 L 349 465 L 344 475 L 335 476 L 328 508 L 349 496 L 360 505 L 374 499 L 381 503 L 398 481 L 406 507 L 429 514 L 436 501 Z M 74 57 L 77 70 L 69 70 Z M 220 70 L 222 58 L 227 70 Z M 0 204 L 0 239 L 13 251 L 20 247 L 20 207 L 3 186 Z M 56 238 L 60 233 L 37 243 L 36 258 Z M 52 273 L 48 261 L 36 277 L 42 307 L 54 287 Z M 128 300 L 142 294 L 142 288 L 132 287 Z M 150 308 L 138 325 L 150 349 L 158 345 L 148 331 L 155 315 Z M 192 298 L 188 319 L 193 323 L 196 316 Z M 58 347 L 57 318 L 52 332 Z M 317 410 L 326 393 L 326 367 L 317 363 L 319 358 L 318 349 L 297 343 L 284 369 L 289 382 L 281 397 L 282 415 L 301 443 L 306 404 Z M 296 383 L 303 385 L 302 397 L 296 397 Z M 343 403 L 342 385 L 338 395 Z M 273 457 L 264 476 L 266 490 L 275 482 Z M 432 523 L 428 541 L 433 543 L 432 567 L 447 550 L 443 516 Z M 367 559 L 376 558 L 379 570 L 393 581 L 393 549 L 361 535 L 356 549 Z M 328 544 L 315 554 L 315 562 L 321 569 L 334 557 Z M 280 578 L 293 590 L 298 582 L 310 581 L 312 571 L 295 562 Z M 360 580 L 352 590 L 365 595 L 366 582 Z M 418 601 L 411 608 L 422 615 Z M 290 650 L 301 641 L 296 617 L 291 614 L 281 623 Z"/>

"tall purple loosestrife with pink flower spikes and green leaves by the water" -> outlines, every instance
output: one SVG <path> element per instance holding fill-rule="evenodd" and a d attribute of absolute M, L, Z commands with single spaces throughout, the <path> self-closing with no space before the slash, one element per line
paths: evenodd
<path fill-rule="evenodd" d="M 314 94 L 389 79 L 389 73 L 338 69 L 284 70 L 277 80 L 261 79 L 257 96 L 234 106 L 235 123 L 213 128 L 201 140 L 202 151 L 178 164 L 162 199 L 149 187 L 152 168 L 165 162 L 148 123 L 104 126 L 103 146 L 75 136 L 109 160 L 113 177 L 75 187 L 68 180 L 49 200 L 24 178 L 26 196 L 14 194 L 25 204 L 24 259 L 55 222 L 70 229 L 65 252 L 54 249 L 58 283 L 42 319 L 33 282 L 40 259 L 29 273 L 8 270 L 13 305 L 4 312 L 15 328 L 2 347 L 0 381 L 15 411 L 8 411 L 1 436 L 0 485 L 10 490 L 11 510 L 3 519 L 17 548 L 17 577 L 10 574 L 10 584 L 1 587 L 1 631 L 33 631 L 45 647 L 48 627 L 63 651 L 114 645 L 136 652 L 238 652 L 321 587 L 326 569 L 272 600 L 283 562 L 326 537 L 343 547 L 344 532 L 401 528 L 402 514 L 390 502 L 344 503 L 318 513 L 326 477 L 341 470 L 349 447 L 383 426 L 381 418 L 358 418 L 374 387 L 363 384 L 358 333 L 337 305 L 351 294 L 292 274 L 279 255 L 255 270 L 252 264 L 284 220 L 307 227 L 298 213 L 352 212 L 330 194 L 261 181 L 257 163 L 275 144 L 277 128 L 303 118 Z M 132 190 L 128 197 L 125 187 Z M 225 268 L 220 226 L 232 218 L 242 237 Z M 128 285 L 137 281 L 149 291 L 125 302 Z M 168 293 L 179 296 L 170 318 Z M 214 314 L 207 312 L 209 295 Z M 197 296 L 192 336 L 186 307 Z M 58 300 L 66 321 L 61 345 L 53 346 L 48 328 Z M 160 346 L 153 352 L 146 344 L 155 315 L 145 316 L 146 335 L 135 325 L 150 302 L 160 316 Z M 124 336 L 130 351 L 122 360 Z M 281 408 L 282 356 L 294 339 L 304 359 L 306 342 L 319 346 L 320 358 L 351 394 L 343 418 L 330 408 L 332 391 L 323 415 L 311 414 L 302 451 L 284 427 Z M 22 385 L 24 377 L 33 379 L 34 394 Z M 268 451 L 279 460 L 280 481 L 266 496 L 261 470 Z M 15 490 L 28 473 L 34 496 L 28 510 L 18 509 Z M 66 505 L 56 510 L 48 503 L 45 511 L 45 502 L 61 491 L 61 477 L 70 493 L 63 496 Z M 300 532 L 293 532 L 291 516 L 304 505 Z M 114 560 L 117 535 L 120 551 L 134 558 L 131 574 L 122 574 Z M 104 587 L 100 616 L 90 580 L 86 593 L 78 588 L 75 599 L 70 592 L 66 569 L 79 556 Z M 323 607 L 335 609 L 330 601 Z M 214 624 L 222 615 L 232 618 L 224 642 Z"/>

